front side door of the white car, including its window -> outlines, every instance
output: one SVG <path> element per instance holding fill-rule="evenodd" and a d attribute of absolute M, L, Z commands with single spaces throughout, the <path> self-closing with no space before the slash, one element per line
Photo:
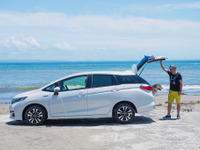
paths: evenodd
<path fill-rule="evenodd" d="M 50 110 L 53 117 L 86 116 L 87 75 L 65 79 L 58 83 L 60 92 L 52 94 Z M 54 87 L 56 87 L 54 85 Z"/>

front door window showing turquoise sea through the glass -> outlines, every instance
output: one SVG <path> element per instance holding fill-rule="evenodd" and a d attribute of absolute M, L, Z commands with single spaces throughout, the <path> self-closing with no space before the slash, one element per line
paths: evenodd
<path fill-rule="evenodd" d="M 61 91 L 71 91 L 86 88 L 87 75 L 78 76 L 61 82 Z"/>

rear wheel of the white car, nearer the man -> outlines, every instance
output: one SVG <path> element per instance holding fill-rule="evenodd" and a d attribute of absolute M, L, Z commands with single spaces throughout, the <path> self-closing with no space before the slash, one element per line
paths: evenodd
<path fill-rule="evenodd" d="M 113 117 L 119 123 L 131 123 L 135 117 L 135 109 L 128 103 L 121 103 L 114 108 Z"/>

